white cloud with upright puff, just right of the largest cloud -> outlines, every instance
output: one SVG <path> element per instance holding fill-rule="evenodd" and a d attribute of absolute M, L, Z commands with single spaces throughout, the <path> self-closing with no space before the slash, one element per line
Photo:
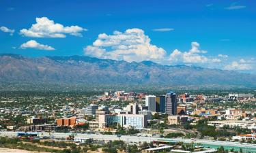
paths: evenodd
<path fill-rule="evenodd" d="M 199 46 L 197 42 L 192 42 L 191 49 L 188 52 L 181 52 L 175 49 L 170 54 L 169 61 L 171 63 L 205 63 L 208 58 L 201 54 L 205 54 L 207 51 L 199 50 Z"/>

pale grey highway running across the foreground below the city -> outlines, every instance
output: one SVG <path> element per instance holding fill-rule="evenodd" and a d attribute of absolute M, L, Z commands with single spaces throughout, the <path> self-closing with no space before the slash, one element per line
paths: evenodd
<path fill-rule="evenodd" d="M 51 137 L 54 138 L 66 138 L 72 133 L 51 133 Z M 16 132 L 10 131 L 1 131 L 0 136 L 8 136 L 8 137 L 16 137 Z M 49 136 L 49 133 L 40 132 L 39 136 Z M 74 137 L 81 137 L 81 138 L 91 138 L 91 139 L 98 139 L 98 140 L 122 140 L 129 143 L 139 143 L 139 142 L 151 142 L 151 141 L 168 141 L 168 142 L 178 142 L 182 141 L 184 143 L 201 143 L 203 146 L 210 146 L 212 148 L 216 148 L 219 146 L 223 146 L 225 148 L 235 148 L 238 150 L 242 148 L 247 152 L 256 152 L 256 144 L 250 143 L 239 143 L 239 142 L 231 142 L 231 141 L 212 141 L 212 140 L 205 140 L 205 139 L 181 139 L 181 138 L 173 138 L 173 139 L 166 139 L 166 138 L 159 138 L 159 137 L 138 137 L 138 136 L 130 136 L 130 135 L 122 135 L 121 137 L 117 137 L 117 135 L 96 135 L 96 134 L 81 134 L 81 133 L 74 133 Z"/>

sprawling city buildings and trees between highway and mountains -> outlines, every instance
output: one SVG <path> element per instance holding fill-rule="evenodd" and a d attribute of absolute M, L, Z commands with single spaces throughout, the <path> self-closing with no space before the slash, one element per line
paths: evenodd
<path fill-rule="evenodd" d="M 45 101 L 45 97 L 33 97 L 23 99 L 25 102 Z M 114 125 L 126 128 L 147 128 L 147 123 L 152 120 L 156 113 L 167 114 L 168 124 L 178 124 L 195 118 L 208 118 L 216 116 L 218 120 L 209 122 L 209 125 L 222 127 L 224 125 L 240 126 L 247 129 L 256 129 L 254 114 L 256 111 L 245 109 L 212 107 L 205 105 L 211 102 L 225 101 L 256 101 L 252 94 L 229 93 L 225 97 L 218 95 L 189 95 L 184 93 L 176 95 L 175 92 L 167 92 L 165 95 L 147 95 L 144 92 L 104 92 L 103 95 L 91 97 L 52 97 L 48 99 L 51 103 L 42 105 L 27 105 L 27 107 L 0 108 L 1 114 L 12 116 L 21 115 L 27 119 L 27 125 L 20 126 L 22 131 L 50 131 L 59 126 L 70 126 L 89 124 L 90 130 L 108 129 Z M 1 103 L 18 103 L 19 99 L 4 99 Z M 60 101 L 66 101 L 61 103 Z M 84 102 L 87 101 L 85 104 Z M 111 105 L 119 101 L 125 105 Z M 109 103 L 106 106 L 102 103 Z M 89 103 L 89 105 L 88 105 Z M 214 104 L 213 103 L 213 104 Z M 87 105 L 87 107 L 85 107 Z M 33 114 L 33 115 L 31 115 Z M 38 114 L 44 117 L 34 118 Z M 47 116 L 47 117 L 46 117 Z M 88 116 L 91 116 L 88 118 Z M 51 120 L 49 120 L 51 118 Z M 2 120 L 2 121 L 1 121 Z M 10 119 L 1 118 L 0 122 L 9 122 Z M 163 122 L 163 120 L 154 120 Z M 195 120 L 197 121 L 197 120 Z M 1 125 L 0 125 L 1 128 Z M 16 125 L 8 124 L 7 129 L 17 129 Z"/>

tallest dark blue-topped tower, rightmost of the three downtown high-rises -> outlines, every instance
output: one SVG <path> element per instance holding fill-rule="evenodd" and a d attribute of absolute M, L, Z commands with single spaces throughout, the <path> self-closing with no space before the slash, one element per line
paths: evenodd
<path fill-rule="evenodd" d="M 177 97 L 174 92 L 168 92 L 166 95 L 166 113 L 169 116 L 177 114 Z"/>

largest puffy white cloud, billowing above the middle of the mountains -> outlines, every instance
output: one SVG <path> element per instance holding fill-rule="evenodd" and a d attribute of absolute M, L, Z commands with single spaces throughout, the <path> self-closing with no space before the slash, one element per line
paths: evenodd
<path fill-rule="evenodd" d="M 150 37 L 141 29 L 127 29 L 113 35 L 101 33 L 91 46 L 84 48 L 85 55 L 124 61 L 155 61 L 165 58 L 165 50 L 150 44 Z"/>

